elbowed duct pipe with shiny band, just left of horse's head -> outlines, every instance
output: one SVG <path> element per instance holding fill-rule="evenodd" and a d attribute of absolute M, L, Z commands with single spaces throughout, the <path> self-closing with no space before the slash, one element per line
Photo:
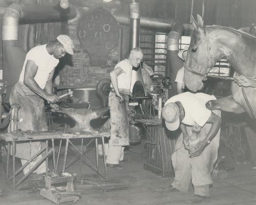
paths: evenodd
<path fill-rule="evenodd" d="M 177 85 L 174 83 L 178 70 L 183 66 L 183 61 L 178 57 L 179 41 L 184 32 L 184 26 L 176 22 L 167 37 L 167 69 L 166 76 L 172 81 L 172 89 L 168 90 L 168 98 L 177 94 Z"/>

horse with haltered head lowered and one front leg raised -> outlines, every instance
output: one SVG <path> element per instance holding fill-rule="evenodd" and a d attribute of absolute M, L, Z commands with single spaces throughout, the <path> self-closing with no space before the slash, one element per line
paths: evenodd
<path fill-rule="evenodd" d="M 226 58 L 238 75 L 256 78 L 256 37 L 243 31 L 224 26 L 204 26 L 198 15 L 197 22 L 192 17 L 194 30 L 188 48 L 184 83 L 191 91 L 201 90 L 203 81 L 215 63 Z M 247 112 L 251 118 L 256 116 L 256 90 L 231 83 L 232 95 L 210 100 L 206 107 L 210 110 L 241 114 Z"/>

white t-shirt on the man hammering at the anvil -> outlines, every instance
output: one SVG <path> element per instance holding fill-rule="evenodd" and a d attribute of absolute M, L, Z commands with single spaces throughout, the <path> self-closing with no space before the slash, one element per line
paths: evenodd
<path fill-rule="evenodd" d="M 53 55 L 50 55 L 46 50 L 46 44 L 41 46 L 36 46 L 32 48 L 26 55 L 21 75 L 19 75 L 19 81 L 24 83 L 24 73 L 25 67 L 28 60 L 34 61 L 36 66 L 38 66 L 37 72 L 35 74 L 35 81 L 44 89 L 49 77 L 49 74 L 58 65 L 60 60 L 56 59 Z"/>

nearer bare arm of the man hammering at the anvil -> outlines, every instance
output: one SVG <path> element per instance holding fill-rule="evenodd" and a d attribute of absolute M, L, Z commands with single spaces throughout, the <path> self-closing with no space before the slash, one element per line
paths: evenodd
<path fill-rule="evenodd" d="M 47 94 L 36 83 L 34 77 L 36 75 L 37 69 L 38 69 L 38 67 L 36 66 L 36 64 L 34 63 L 33 60 L 28 60 L 27 61 L 27 64 L 26 64 L 26 67 L 25 67 L 25 73 L 24 73 L 24 84 L 26 86 L 28 86 L 28 88 L 30 90 L 35 92 L 37 95 L 43 97 L 44 99 L 46 99 L 50 103 L 56 103 L 56 101 L 58 100 L 58 97 L 55 96 L 55 95 Z"/>

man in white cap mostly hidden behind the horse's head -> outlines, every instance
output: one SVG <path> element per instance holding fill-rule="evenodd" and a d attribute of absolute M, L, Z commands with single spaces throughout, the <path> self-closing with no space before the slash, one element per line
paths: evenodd
<path fill-rule="evenodd" d="M 187 58 L 187 52 L 188 52 L 188 47 L 185 46 L 183 50 L 179 51 L 178 57 L 181 58 L 183 61 L 185 61 Z M 178 70 L 175 78 L 175 83 L 177 83 L 177 94 L 183 93 L 185 89 L 184 71 L 185 71 L 185 68 L 183 66 Z"/>

